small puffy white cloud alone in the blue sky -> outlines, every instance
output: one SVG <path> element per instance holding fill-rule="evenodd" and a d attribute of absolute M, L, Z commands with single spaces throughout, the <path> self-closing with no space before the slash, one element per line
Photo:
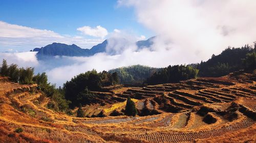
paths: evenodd
<path fill-rule="evenodd" d="M 101 37 L 104 38 L 106 35 L 108 35 L 108 31 L 101 27 L 100 25 L 96 27 L 90 27 L 90 26 L 83 26 L 77 28 L 78 31 L 82 32 L 83 34 L 94 36 L 94 37 Z"/>

